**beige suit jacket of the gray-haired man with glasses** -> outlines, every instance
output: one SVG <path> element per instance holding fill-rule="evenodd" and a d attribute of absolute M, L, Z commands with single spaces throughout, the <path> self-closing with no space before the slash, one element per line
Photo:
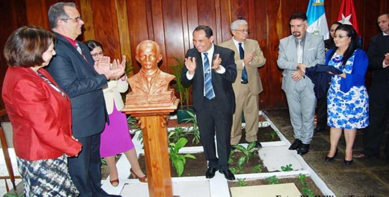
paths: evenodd
<path fill-rule="evenodd" d="M 246 39 L 244 42 L 244 50 L 245 53 L 248 54 L 250 51 L 254 51 L 254 59 L 251 61 L 250 65 L 245 65 L 247 71 L 247 78 L 249 81 L 249 88 L 252 95 L 258 95 L 263 91 L 262 82 L 260 81 L 260 76 L 258 72 L 258 68 L 265 65 L 266 59 L 263 57 L 263 53 L 259 48 L 259 44 L 257 40 Z M 236 64 L 236 80 L 232 84 L 235 94 L 238 94 L 240 90 L 241 78 L 242 78 L 242 70 L 243 70 L 243 60 L 240 59 L 238 49 L 235 46 L 232 38 L 226 42 L 223 42 L 219 46 L 226 47 L 235 52 L 235 64 Z"/>

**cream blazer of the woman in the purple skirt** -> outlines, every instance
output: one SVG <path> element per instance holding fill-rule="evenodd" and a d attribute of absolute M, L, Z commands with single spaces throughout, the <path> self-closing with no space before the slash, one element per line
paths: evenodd
<path fill-rule="evenodd" d="M 123 109 L 124 103 L 120 93 L 126 92 L 128 88 L 129 84 L 127 83 L 127 77 L 124 81 L 122 78 L 108 81 L 108 86 L 102 90 L 108 114 L 111 114 L 113 111 L 113 101 L 115 101 L 117 110 L 120 111 Z"/>

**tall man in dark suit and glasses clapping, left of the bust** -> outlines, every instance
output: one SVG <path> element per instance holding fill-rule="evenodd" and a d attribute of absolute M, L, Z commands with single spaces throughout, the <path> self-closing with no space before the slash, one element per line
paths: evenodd
<path fill-rule="evenodd" d="M 47 71 L 70 98 L 73 135 L 82 143 L 78 157 L 68 159 L 70 176 L 80 197 L 109 197 L 100 187 L 100 132 L 108 121 L 102 88 L 124 73 L 124 63 L 110 68 L 104 57 L 95 65 L 87 46 L 76 40 L 84 22 L 74 3 L 56 3 L 48 16 L 57 55 Z"/>

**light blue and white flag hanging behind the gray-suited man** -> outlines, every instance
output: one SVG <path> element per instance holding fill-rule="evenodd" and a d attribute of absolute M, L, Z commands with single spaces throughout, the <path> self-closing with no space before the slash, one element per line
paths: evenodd
<path fill-rule="evenodd" d="M 307 8 L 307 32 L 322 35 L 324 40 L 329 38 L 328 24 L 325 18 L 324 0 L 309 0 Z"/>

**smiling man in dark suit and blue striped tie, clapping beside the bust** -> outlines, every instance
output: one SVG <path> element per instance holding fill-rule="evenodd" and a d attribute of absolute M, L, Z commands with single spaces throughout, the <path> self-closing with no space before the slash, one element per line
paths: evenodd
<path fill-rule="evenodd" d="M 189 49 L 186 54 L 181 81 L 184 85 L 193 84 L 193 106 L 205 159 L 208 161 L 206 178 L 214 177 L 216 170 L 219 169 L 227 180 L 234 180 L 235 176 L 228 169 L 232 114 L 235 110 L 232 89 L 232 83 L 236 78 L 234 52 L 215 46 L 212 42 L 211 28 L 198 26 L 194 29 L 195 48 Z"/>

